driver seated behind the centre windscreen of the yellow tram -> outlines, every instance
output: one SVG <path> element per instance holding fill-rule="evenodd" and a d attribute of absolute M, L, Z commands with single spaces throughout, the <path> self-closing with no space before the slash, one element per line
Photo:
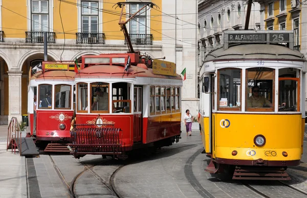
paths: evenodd
<path fill-rule="evenodd" d="M 247 107 L 262 108 L 265 106 L 273 107 L 272 103 L 264 96 L 259 95 L 259 86 L 252 87 L 252 96 L 247 101 Z"/>

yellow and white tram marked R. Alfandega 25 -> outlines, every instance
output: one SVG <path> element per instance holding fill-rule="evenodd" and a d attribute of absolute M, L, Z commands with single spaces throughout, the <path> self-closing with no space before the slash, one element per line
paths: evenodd
<path fill-rule="evenodd" d="M 290 180 L 300 163 L 306 59 L 291 31 L 225 31 L 200 69 L 206 171 L 232 179 Z"/>

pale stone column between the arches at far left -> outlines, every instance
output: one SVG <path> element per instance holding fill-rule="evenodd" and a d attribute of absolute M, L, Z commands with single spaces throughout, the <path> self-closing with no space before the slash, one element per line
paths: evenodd
<path fill-rule="evenodd" d="M 19 70 L 8 71 L 9 75 L 9 123 L 12 117 L 16 117 L 18 122 L 22 121 L 21 116 L 21 76 L 23 72 Z"/>

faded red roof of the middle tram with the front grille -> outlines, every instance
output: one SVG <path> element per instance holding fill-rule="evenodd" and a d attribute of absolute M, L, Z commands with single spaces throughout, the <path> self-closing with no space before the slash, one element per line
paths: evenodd
<path fill-rule="evenodd" d="M 124 67 L 122 65 L 103 65 L 96 64 L 90 67 L 84 68 L 80 70 L 79 74 L 76 74 L 76 78 L 82 77 L 152 77 L 152 78 L 167 78 L 167 79 L 177 79 L 182 80 L 179 74 L 176 76 L 168 76 L 168 75 L 157 75 L 153 74 L 152 69 L 147 69 L 146 65 L 138 64 L 139 66 L 131 65 L 124 74 Z M 145 69 L 146 68 L 146 69 Z M 124 74 L 124 75 L 123 75 Z"/>

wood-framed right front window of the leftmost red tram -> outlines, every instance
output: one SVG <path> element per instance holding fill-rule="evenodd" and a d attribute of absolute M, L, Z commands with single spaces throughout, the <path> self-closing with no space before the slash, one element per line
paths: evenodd
<path fill-rule="evenodd" d="M 55 91 L 55 108 L 71 108 L 71 85 L 57 84 Z"/>

